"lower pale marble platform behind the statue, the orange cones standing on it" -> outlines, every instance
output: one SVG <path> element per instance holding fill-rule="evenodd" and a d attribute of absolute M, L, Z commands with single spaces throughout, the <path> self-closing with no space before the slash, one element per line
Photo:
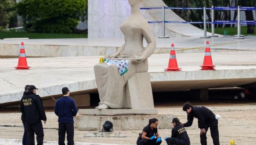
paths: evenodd
<path fill-rule="evenodd" d="M 204 53 L 177 54 L 182 71 L 165 72 L 169 54 L 149 57 L 153 91 L 235 87 L 256 82 L 256 51 L 212 52 L 216 70 L 200 70 Z M 40 96 L 96 89 L 93 66 L 100 56 L 27 58 L 30 70 L 15 70 L 18 58 L 0 59 L 0 103 L 20 100 L 24 86 L 33 84 Z"/>

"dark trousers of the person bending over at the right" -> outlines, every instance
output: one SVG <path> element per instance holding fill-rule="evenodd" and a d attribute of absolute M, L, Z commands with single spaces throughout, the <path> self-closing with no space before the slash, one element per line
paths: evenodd
<path fill-rule="evenodd" d="M 219 140 L 219 130 L 218 130 L 218 120 L 214 120 L 214 122 L 209 122 L 206 123 L 204 129 L 206 130 L 206 133 L 208 131 L 208 128 L 211 130 L 211 136 L 213 138 L 213 143 L 214 145 L 220 145 L 220 140 Z M 200 133 L 200 139 L 201 139 L 201 145 L 207 145 L 207 137 L 206 133 Z"/>

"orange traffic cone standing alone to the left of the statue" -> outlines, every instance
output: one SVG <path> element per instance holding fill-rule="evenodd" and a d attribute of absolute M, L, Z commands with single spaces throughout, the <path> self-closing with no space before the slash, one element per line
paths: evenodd
<path fill-rule="evenodd" d="M 30 67 L 27 64 L 24 43 L 21 42 L 19 57 L 18 57 L 18 66 L 15 67 L 16 70 L 29 70 Z"/>

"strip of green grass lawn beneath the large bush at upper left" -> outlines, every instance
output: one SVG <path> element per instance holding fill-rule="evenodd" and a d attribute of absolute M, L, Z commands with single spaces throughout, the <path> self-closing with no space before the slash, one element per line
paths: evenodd
<path fill-rule="evenodd" d="M 28 33 L 28 32 L 0 31 L 0 39 L 4 39 L 4 38 L 29 38 L 29 39 L 87 38 L 87 34 Z"/>

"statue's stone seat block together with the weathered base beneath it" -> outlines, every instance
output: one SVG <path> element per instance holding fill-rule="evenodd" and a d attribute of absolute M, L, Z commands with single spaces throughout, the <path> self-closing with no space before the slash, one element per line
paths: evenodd
<path fill-rule="evenodd" d="M 104 122 L 110 121 L 114 125 L 114 131 L 142 130 L 149 119 L 157 118 L 158 128 L 172 128 L 173 115 L 157 115 L 157 109 L 154 109 L 148 72 L 136 73 L 126 82 L 124 106 L 131 109 L 79 109 L 79 116 L 74 118 L 74 126 L 77 129 L 102 130 Z"/>

